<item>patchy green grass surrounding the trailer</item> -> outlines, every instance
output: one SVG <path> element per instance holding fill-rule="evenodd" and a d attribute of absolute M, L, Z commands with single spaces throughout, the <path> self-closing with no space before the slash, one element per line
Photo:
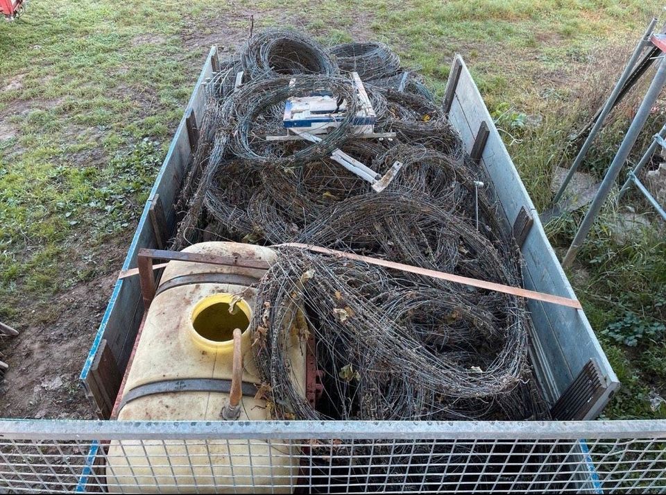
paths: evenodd
<path fill-rule="evenodd" d="M 439 95 L 462 53 L 544 208 L 554 167 L 570 162 L 567 135 L 599 103 L 574 98 L 581 79 L 596 71 L 605 85 L 595 87 L 608 87 L 608 67 L 595 56 L 615 47 L 615 74 L 659 8 L 641 0 L 33 1 L 21 21 L 0 25 L 0 119 L 15 134 L 0 139 L 0 319 L 31 319 L 17 311 L 25 301 L 47 308 L 55 294 L 119 268 L 207 45 L 233 53 L 250 15 L 255 28 L 294 26 L 327 44 L 388 42 Z M 617 132 L 604 133 L 588 170 L 599 173 L 613 143 Z M 564 246 L 577 221 L 552 227 L 554 243 Z M 665 317 L 648 310 L 665 283 L 664 244 L 646 234 L 617 246 L 600 225 L 580 256 L 589 278 L 574 283 L 624 382 L 606 414 L 665 417 L 646 398 L 666 389 L 664 346 L 641 337 L 629 347 L 602 333 L 626 312 L 648 325 Z"/>

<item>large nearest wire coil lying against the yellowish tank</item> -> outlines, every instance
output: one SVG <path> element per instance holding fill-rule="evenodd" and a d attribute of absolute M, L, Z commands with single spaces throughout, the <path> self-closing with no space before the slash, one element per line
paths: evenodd
<path fill-rule="evenodd" d="M 498 331 L 501 306 L 475 312 L 477 304 L 466 305 L 464 292 L 287 248 L 280 249 L 257 298 L 268 318 L 257 315 L 253 327 L 262 327 L 260 320 L 268 327 L 255 336 L 256 362 L 285 414 L 320 417 L 287 372 L 286 344 L 301 308 L 318 358 L 325 356 L 324 381 L 336 387 L 328 392 L 343 399 L 335 412 L 343 419 L 372 419 L 377 408 L 384 419 L 430 417 L 461 399 L 509 393 L 523 375 L 527 331 L 513 328 L 513 319 L 522 317 L 518 304 L 513 314 L 504 310 L 506 327 Z M 433 304 L 438 315 L 416 311 Z M 475 347 L 479 343 L 493 351 Z"/>

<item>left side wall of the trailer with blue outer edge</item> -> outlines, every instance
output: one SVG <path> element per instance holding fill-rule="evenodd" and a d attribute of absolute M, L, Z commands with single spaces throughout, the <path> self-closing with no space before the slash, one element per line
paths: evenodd
<path fill-rule="evenodd" d="M 151 203 L 155 199 L 155 194 L 160 194 L 160 200 L 164 205 L 165 217 L 167 219 L 167 230 L 169 233 L 173 231 L 176 226 L 176 212 L 173 208 L 173 203 L 176 200 L 176 195 L 180 190 L 180 181 L 187 173 L 187 165 L 191 158 L 191 148 L 187 133 L 186 115 L 190 109 L 193 110 L 195 118 L 198 121 L 202 120 L 204 108 L 203 84 L 207 78 L 212 75 L 212 60 L 217 57 L 216 47 L 212 47 L 206 59 L 203 69 L 199 78 L 194 86 L 192 96 L 187 103 L 185 113 L 180 120 L 180 124 L 173 137 L 167 157 L 164 158 L 162 167 L 160 168 L 155 184 L 151 190 L 151 194 L 146 201 L 139 225 L 134 234 L 133 240 L 130 244 L 125 262 L 123 263 L 123 270 L 130 269 L 137 266 L 137 251 L 142 247 L 156 247 L 155 235 L 153 233 L 153 226 L 151 224 L 148 210 Z M 173 183 L 178 183 L 176 187 Z M 129 353 L 133 346 L 134 337 L 136 336 L 141 317 L 143 314 L 143 303 L 140 296 L 139 283 L 136 278 L 125 278 L 118 280 L 114 286 L 111 294 L 110 301 L 104 312 L 99 330 L 94 338 L 92 347 L 88 353 L 87 359 L 83 364 L 83 369 L 80 373 L 80 380 L 85 387 L 87 395 L 94 399 L 94 402 L 99 407 L 101 398 L 96 396 L 91 388 L 91 369 L 96 359 L 97 352 L 103 339 L 107 339 L 110 349 L 117 362 L 119 371 L 123 374 L 126 367 Z M 123 325 L 123 319 L 128 319 Z M 124 330 L 124 335 L 110 335 L 110 328 L 113 328 L 115 334 Z M 114 399 L 115 397 L 113 397 Z M 100 408 L 101 410 L 101 408 Z"/>

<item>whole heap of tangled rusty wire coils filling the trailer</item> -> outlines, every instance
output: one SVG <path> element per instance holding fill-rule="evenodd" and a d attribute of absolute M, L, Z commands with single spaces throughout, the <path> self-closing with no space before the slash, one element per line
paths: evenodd
<path fill-rule="evenodd" d="M 376 115 L 355 130 L 357 73 Z M 300 242 L 521 285 L 520 252 L 475 181 L 483 173 L 416 72 L 381 43 L 325 49 L 253 35 L 221 62 L 179 208 L 173 249 L 207 240 Z M 316 141 L 287 135 L 291 98 L 332 94 L 343 117 Z M 387 137 L 388 136 L 388 137 Z M 293 137 L 293 136 L 292 136 Z M 382 192 L 332 158 L 383 174 Z M 478 215 L 478 220 L 477 220 Z M 285 419 L 545 419 L 522 299 L 282 246 L 258 287 L 253 352 Z M 291 380 L 289 332 L 314 337 L 324 394 Z"/>

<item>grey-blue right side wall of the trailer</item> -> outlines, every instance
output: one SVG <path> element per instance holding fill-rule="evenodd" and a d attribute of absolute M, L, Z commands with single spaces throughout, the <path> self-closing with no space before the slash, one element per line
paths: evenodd
<path fill-rule="evenodd" d="M 575 297 L 547 240 L 536 208 L 529 199 L 468 69 L 462 60 L 458 62 L 457 57 L 455 63 L 460 63 L 463 68 L 451 104 L 452 124 L 459 129 L 470 150 L 479 125 L 482 121 L 488 122 L 490 134 L 481 165 L 489 179 L 490 195 L 499 201 L 503 213 L 501 216 L 507 226 L 511 225 L 509 222 L 515 219 L 521 208 L 527 208 L 533 215 L 533 226 L 522 248 L 525 259 L 525 287 L 539 292 Z M 597 359 L 609 388 L 617 387 L 617 376 L 582 310 L 554 305 L 544 307 L 539 301 L 529 301 L 528 307 L 532 312 L 535 333 L 538 335 L 536 340 L 540 346 L 540 349 L 533 349 L 533 353 L 546 355 L 550 368 L 549 373 L 540 373 L 547 380 L 554 381 L 552 385 L 559 394 L 565 391 L 573 376 L 580 372 L 590 358 Z M 605 401 L 607 396 L 608 394 L 600 398 L 598 403 Z M 599 407 L 596 409 L 598 412 Z"/>

